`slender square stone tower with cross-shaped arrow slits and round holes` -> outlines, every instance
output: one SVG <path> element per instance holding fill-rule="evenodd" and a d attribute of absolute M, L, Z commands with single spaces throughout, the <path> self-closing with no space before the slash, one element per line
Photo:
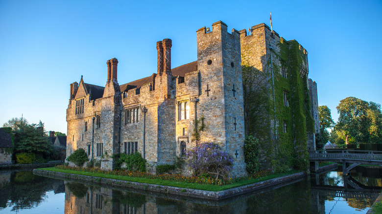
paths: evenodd
<path fill-rule="evenodd" d="M 244 112 L 239 32 L 218 21 L 212 31 L 197 31 L 201 95 L 197 117 L 204 116 L 202 142 L 221 143 L 235 159 L 234 175 L 244 175 Z"/>

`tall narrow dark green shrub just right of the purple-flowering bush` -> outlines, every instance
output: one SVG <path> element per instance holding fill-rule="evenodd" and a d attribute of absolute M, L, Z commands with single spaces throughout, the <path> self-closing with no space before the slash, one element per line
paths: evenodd
<path fill-rule="evenodd" d="M 244 157 L 246 168 L 249 174 L 254 174 L 259 170 L 259 139 L 253 136 L 245 136 Z"/>

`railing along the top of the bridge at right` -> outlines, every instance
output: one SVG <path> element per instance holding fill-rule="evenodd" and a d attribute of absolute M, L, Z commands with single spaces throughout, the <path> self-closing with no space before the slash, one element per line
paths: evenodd
<path fill-rule="evenodd" d="M 382 161 L 382 152 L 369 150 L 342 150 L 339 152 L 327 153 L 326 150 L 317 150 L 309 154 L 310 159 L 320 160 L 365 160 L 365 161 Z"/>

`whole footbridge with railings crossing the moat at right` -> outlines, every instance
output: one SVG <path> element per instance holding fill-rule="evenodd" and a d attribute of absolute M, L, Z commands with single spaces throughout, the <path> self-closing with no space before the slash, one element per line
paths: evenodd
<path fill-rule="evenodd" d="M 318 162 L 342 163 L 343 175 L 346 176 L 353 168 L 360 164 L 382 166 L 382 152 L 369 150 L 316 150 L 309 154 L 310 171 L 315 172 Z"/>

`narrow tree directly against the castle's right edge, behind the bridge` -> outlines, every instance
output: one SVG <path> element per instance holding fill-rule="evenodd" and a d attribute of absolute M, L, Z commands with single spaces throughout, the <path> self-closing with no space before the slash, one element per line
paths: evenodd
<path fill-rule="evenodd" d="M 318 111 L 320 116 L 320 134 L 316 136 L 316 148 L 321 150 L 330 139 L 328 128 L 333 127 L 334 121 L 329 107 L 319 106 Z"/>

